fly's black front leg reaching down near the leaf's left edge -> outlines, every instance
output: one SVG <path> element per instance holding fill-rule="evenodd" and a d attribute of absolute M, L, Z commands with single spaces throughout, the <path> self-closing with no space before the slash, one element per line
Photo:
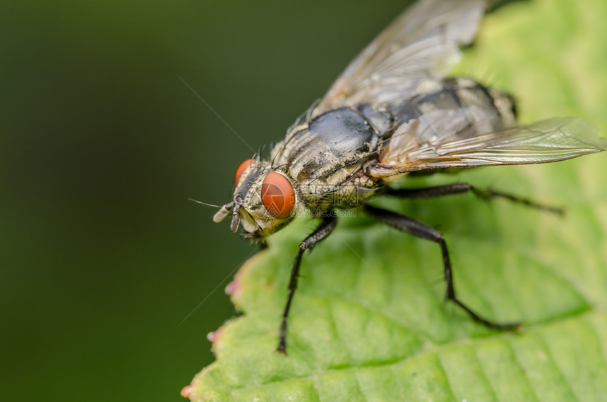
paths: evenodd
<path fill-rule="evenodd" d="M 291 302 L 297 288 L 297 279 L 299 278 L 299 266 L 301 265 L 301 256 L 306 250 L 311 250 L 315 245 L 320 243 L 331 234 L 335 225 L 337 224 L 337 217 L 330 211 L 323 216 L 323 221 L 320 225 L 312 232 L 312 234 L 301 243 L 299 243 L 299 252 L 295 257 L 293 269 L 291 270 L 291 279 L 289 280 L 289 297 L 287 298 L 287 305 L 284 307 L 284 313 L 282 313 L 282 324 L 280 324 L 280 340 L 278 341 L 278 347 L 276 351 L 279 353 L 287 354 L 287 317 L 289 316 L 289 309 L 291 308 Z"/>

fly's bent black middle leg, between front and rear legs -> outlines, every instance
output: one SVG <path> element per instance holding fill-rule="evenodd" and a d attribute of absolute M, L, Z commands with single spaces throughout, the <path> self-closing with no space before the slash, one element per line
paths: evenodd
<path fill-rule="evenodd" d="M 409 233 L 413 236 L 424 238 L 426 240 L 431 240 L 440 245 L 440 250 L 443 252 L 443 265 L 445 267 L 445 281 L 447 282 L 447 300 L 451 300 L 453 303 L 462 307 L 465 312 L 467 312 L 472 319 L 476 322 L 480 322 L 486 327 L 497 328 L 497 329 L 517 329 L 520 327 L 520 324 L 517 322 L 494 322 L 490 319 L 486 319 L 476 314 L 473 310 L 470 309 L 467 305 L 462 303 L 457 296 L 455 296 L 455 288 L 453 287 L 453 273 L 451 270 L 451 260 L 449 259 L 449 252 L 447 251 L 447 243 L 445 243 L 445 239 L 443 235 L 440 234 L 439 231 L 434 229 L 432 226 L 428 226 L 426 224 L 422 224 L 419 221 L 406 217 L 402 214 L 397 214 L 396 212 L 387 211 L 385 209 L 379 209 L 375 207 L 371 207 L 370 205 L 365 205 L 365 211 L 368 214 L 371 214 L 378 221 L 387 224 L 388 226 L 392 226 L 399 231 L 404 231 L 405 233 Z"/>

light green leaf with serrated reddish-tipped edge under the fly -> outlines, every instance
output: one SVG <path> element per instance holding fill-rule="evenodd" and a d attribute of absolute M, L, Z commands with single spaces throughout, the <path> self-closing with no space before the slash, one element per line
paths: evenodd
<path fill-rule="evenodd" d="M 524 123 L 580 116 L 607 133 L 607 3 L 515 3 L 488 16 L 457 74 L 517 95 Z M 482 80 L 482 78 L 481 78 Z M 469 182 L 567 207 L 565 218 L 473 195 L 378 200 L 438 225 L 455 287 L 486 317 L 443 303 L 438 245 L 359 213 L 303 258 L 288 355 L 274 353 L 292 260 L 315 222 L 270 237 L 231 285 L 244 315 L 212 334 L 217 361 L 192 401 L 599 401 L 607 398 L 607 155 L 469 169 Z"/>

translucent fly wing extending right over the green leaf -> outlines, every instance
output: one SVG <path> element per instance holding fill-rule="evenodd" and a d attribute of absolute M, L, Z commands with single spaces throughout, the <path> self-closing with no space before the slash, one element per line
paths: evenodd
<path fill-rule="evenodd" d="M 371 176 L 450 167 L 539 164 L 607 149 L 597 128 L 577 117 L 558 117 L 529 126 L 477 135 L 466 119 L 443 114 L 436 121 L 414 119 L 399 127 Z M 449 135 L 438 135 L 445 132 Z M 457 126 L 461 124 L 462 126 Z M 455 126 L 454 126 L 455 125 Z"/>

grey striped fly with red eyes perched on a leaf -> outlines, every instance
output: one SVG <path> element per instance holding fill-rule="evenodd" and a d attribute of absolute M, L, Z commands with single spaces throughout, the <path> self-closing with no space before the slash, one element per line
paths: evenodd
<path fill-rule="evenodd" d="M 349 63 L 268 158 L 247 159 L 236 169 L 234 197 L 213 218 L 218 222 L 231 215 L 233 232 L 242 224 L 246 237 L 263 241 L 305 211 L 320 219 L 299 244 L 277 351 L 286 351 L 287 316 L 303 252 L 330 235 L 339 209 L 362 209 L 399 231 L 438 243 L 447 300 L 487 327 L 519 326 L 481 317 L 457 298 L 440 232 L 367 203 L 377 195 L 438 197 L 471 191 L 550 209 L 467 183 L 416 189 L 387 183 L 452 168 L 557 162 L 607 148 L 607 140 L 580 118 L 518 125 L 514 99 L 507 93 L 469 78 L 443 76 L 461 56 L 459 47 L 474 39 L 485 8 L 480 0 L 417 2 Z"/>

